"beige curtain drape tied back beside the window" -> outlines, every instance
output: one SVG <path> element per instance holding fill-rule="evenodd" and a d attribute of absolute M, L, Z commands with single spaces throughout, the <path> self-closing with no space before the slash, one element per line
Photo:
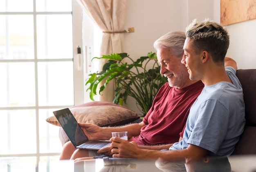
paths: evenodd
<path fill-rule="evenodd" d="M 94 22 L 103 31 L 100 55 L 109 55 L 123 52 L 124 33 L 113 33 L 124 29 L 124 18 L 126 13 L 126 0 L 77 0 L 81 7 L 88 13 Z M 102 70 L 106 60 L 99 62 L 99 71 Z M 97 101 L 112 102 L 114 99 L 115 84 L 109 83 L 102 92 L 102 96 L 97 96 Z"/>

